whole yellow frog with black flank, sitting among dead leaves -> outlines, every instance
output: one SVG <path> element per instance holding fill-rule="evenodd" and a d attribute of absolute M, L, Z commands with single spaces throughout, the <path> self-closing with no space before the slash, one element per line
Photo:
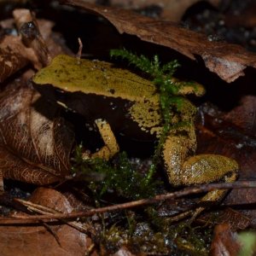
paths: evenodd
<path fill-rule="evenodd" d="M 55 93 L 61 96 L 57 99 L 61 104 L 67 104 L 68 108 L 84 115 L 88 124 L 95 122 L 105 146 L 84 157 L 111 158 L 119 151 L 116 135 L 140 140 L 161 135 L 163 120 L 155 85 L 111 63 L 78 61 L 68 55 L 58 55 L 33 77 L 33 83 L 39 91 L 43 91 L 47 84 L 53 85 L 57 89 Z M 201 96 L 204 89 L 201 84 L 197 84 L 196 90 L 189 84 L 181 86 L 180 95 L 189 93 Z M 73 94 L 73 101 L 65 102 L 65 95 L 70 94 Z M 218 154 L 195 154 L 195 107 L 185 98 L 182 113 L 172 113 L 172 127 L 162 147 L 169 182 L 175 186 L 219 179 L 234 182 L 239 168 L 236 160 Z M 184 125 L 179 125 L 181 123 Z M 202 201 L 218 201 L 224 192 L 209 192 Z"/>

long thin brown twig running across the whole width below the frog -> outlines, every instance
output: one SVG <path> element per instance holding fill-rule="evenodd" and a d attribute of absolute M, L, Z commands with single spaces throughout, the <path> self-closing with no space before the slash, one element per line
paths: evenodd
<path fill-rule="evenodd" d="M 54 222 L 54 221 L 58 221 L 59 219 L 90 217 L 96 213 L 113 212 L 117 210 L 124 210 L 127 208 L 141 207 L 143 205 L 154 204 L 159 201 L 165 201 L 165 200 L 183 197 L 186 195 L 193 195 L 193 194 L 198 194 L 202 192 L 208 192 L 215 189 L 248 189 L 248 188 L 256 188 L 256 181 L 237 181 L 235 183 L 203 184 L 200 186 L 183 189 L 183 190 L 173 192 L 173 193 L 168 193 L 165 195 L 156 195 L 148 199 L 130 201 L 130 202 L 126 202 L 123 204 L 114 205 L 110 207 L 90 209 L 87 212 L 71 212 L 71 213 L 54 213 L 54 214 L 44 214 L 44 215 L 19 216 L 19 218 L 0 218 L 0 224 L 34 223 L 38 220 L 43 220 L 45 222 Z"/>

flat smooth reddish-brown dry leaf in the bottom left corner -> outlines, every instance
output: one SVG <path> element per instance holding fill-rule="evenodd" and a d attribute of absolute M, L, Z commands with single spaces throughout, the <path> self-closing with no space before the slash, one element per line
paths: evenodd
<path fill-rule="evenodd" d="M 67 225 L 55 226 L 52 230 L 61 241 L 61 247 L 55 236 L 44 226 L 1 226 L 1 254 L 4 256 L 84 255 L 87 247 L 85 234 Z"/>

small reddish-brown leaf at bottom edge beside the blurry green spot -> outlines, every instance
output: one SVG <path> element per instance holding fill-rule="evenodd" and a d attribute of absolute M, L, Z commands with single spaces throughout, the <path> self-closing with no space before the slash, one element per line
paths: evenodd
<path fill-rule="evenodd" d="M 240 244 L 236 233 L 230 229 L 229 224 L 219 224 L 214 229 L 210 250 L 211 256 L 235 256 L 239 253 Z"/>

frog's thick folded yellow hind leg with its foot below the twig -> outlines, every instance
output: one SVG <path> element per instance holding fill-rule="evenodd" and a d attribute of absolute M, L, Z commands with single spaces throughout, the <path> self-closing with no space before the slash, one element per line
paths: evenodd
<path fill-rule="evenodd" d="M 231 183 L 236 180 L 239 169 L 236 160 L 219 154 L 195 154 L 196 137 L 194 125 L 170 131 L 163 148 L 166 172 L 175 186 L 211 183 L 219 179 Z M 201 201 L 218 201 L 225 190 L 208 192 Z M 194 212 L 197 216 L 204 207 Z"/>

